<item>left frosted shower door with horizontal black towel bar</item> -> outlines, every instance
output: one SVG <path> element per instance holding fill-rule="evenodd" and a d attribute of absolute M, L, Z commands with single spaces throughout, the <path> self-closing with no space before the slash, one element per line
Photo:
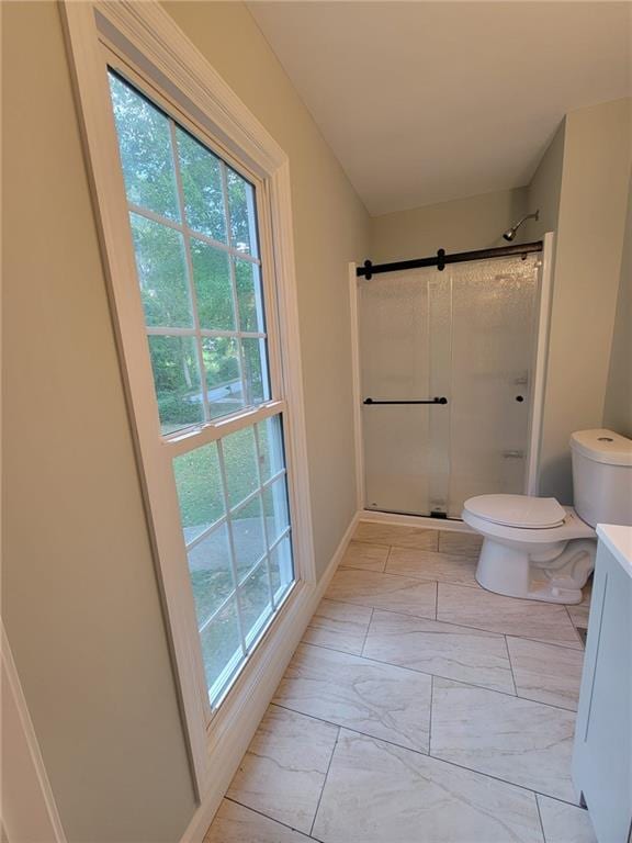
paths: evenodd
<path fill-rule="evenodd" d="M 432 269 L 374 277 L 360 285 L 359 315 L 364 401 L 448 395 L 448 278 Z M 448 405 L 365 403 L 362 409 L 366 507 L 447 512 Z"/>

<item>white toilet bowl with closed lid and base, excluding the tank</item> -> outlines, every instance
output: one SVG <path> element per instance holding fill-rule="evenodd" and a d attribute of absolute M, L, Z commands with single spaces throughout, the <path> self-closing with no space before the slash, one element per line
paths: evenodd
<path fill-rule="evenodd" d="M 476 581 L 487 591 L 549 603 L 580 603 L 595 567 L 595 530 L 553 497 L 478 495 L 463 520 L 483 536 Z"/>

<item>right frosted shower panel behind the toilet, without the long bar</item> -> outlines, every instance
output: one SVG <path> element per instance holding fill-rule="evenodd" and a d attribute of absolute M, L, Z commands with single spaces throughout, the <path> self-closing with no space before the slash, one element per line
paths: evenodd
<path fill-rule="evenodd" d="M 452 265 L 450 515 L 456 518 L 473 495 L 523 491 L 538 263 L 531 255 Z"/>

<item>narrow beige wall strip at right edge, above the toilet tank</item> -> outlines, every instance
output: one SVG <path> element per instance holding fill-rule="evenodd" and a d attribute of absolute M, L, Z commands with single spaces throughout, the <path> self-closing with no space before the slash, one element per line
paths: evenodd
<path fill-rule="evenodd" d="M 603 425 L 632 438 L 632 179 L 628 190 L 621 278 L 610 350 Z"/>

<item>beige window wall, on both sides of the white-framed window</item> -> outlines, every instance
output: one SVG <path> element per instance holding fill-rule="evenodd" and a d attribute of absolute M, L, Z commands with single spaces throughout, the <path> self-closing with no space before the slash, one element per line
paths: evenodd
<path fill-rule="evenodd" d="M 368 216 L 248 11 L 170 11 L 290 154 L 323 571 L 354 510 Z M 59 13 L 2 13 L 4 621 L 69 841 L 174 841 L 194 799 Z"/>

